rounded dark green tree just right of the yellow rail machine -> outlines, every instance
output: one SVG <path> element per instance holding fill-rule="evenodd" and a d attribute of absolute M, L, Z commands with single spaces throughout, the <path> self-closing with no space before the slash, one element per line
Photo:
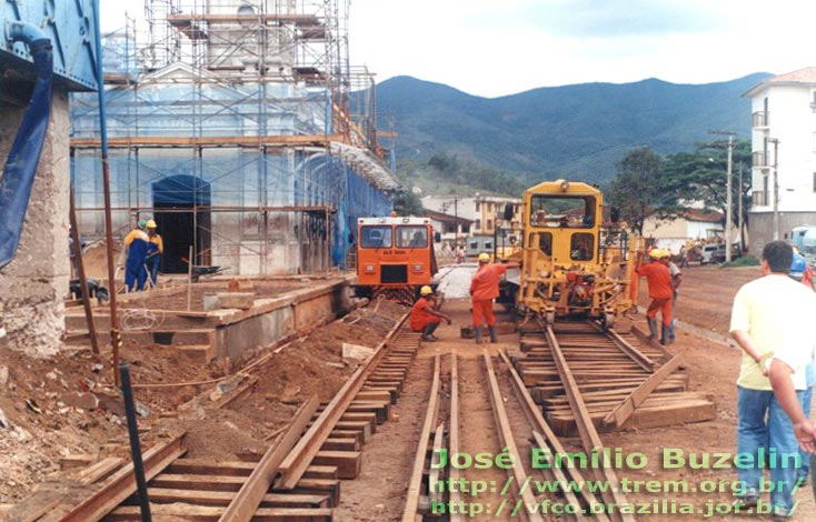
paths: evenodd
<path fill-rule="evenodd" d="M 634 149 L 617 163 L 617 171 L 609 184 L 609 202 L 631 230 L 643 234 L 646 218 L 660 203 L 660 157 L 648 147 Z"/>

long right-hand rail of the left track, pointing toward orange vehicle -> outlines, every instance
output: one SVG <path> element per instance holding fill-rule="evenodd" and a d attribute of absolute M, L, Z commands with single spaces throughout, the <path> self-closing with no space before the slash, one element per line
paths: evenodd
<path fill-rule="evenodd" d="M 298 441 L 295 449 L 287 455 L 280 464 L 279 470 L 281 476 L 276 482 L 276 488 L 281 490 L 291 490 L 297 485 L 298 481 L 303 476 L 306 469 L 309 466 L 309 463 L 320 451 L 320 446 L 324 445 L 337 422 L 344 413 L 346 413 L 349 404 L 351 404 L 351 401 L 354 401 L 357 393 L 366 383 L 366 379 L 377 368 L 382 358 L 385 358 L 386 352 L 388 351 L 388 342 L 391 340 L 394 334 L 399 331 L 402 324 L 405 324 L 408 315 L 409 313 L 405 313 L 402 318 L 397 321 L 397 324 L 395 324 L 388 332 L 382 342 L 377 345 L 374 355 L 371 355 L 366 364 L 357 369 L 340 391 L 337 392 L 331 402 L 329 402 L 326 409 L 320 413 L 320 416 L 318 416 L 311 428 L 309 428 L 306 434 Z"/>

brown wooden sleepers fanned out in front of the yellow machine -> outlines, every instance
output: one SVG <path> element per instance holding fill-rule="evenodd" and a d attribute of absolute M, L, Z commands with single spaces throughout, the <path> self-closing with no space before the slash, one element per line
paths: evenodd
<path fill-rule="evenodd" d="M 558 343 L 576 378 L 578 391 L 599 431 L 656 428 L 714 419 L 710 395 L 687 391 L 681 354 L 673 354 L 643 337 L 601 332 L 587 322 L 556 323 L 551 331 L 523 332 L 516 368 L 559 435 L 576 433 L 575 416 L 553 359 Z"/>

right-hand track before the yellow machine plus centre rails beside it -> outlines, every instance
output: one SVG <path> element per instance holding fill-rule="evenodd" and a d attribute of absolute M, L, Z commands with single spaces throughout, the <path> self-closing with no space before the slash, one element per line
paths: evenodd
<path fill-rule="evenodd" d="M 541 324 L 521 333 L 520 349 L 514 353 L 499 350 L 495 355 L 485 350 L 478 359 L 462 359 L 455 351 L 436 355 L 404 522 L 440 515 L 461 520 L 474 514 L 539 521 L 546 520 L 547 506 L 556 504 L 567 520 L 635 520 L 629 514 L 634 504 L 621 491 L 616 465 L 603 456 L 599 433 L 714 415 L 710 398 L 686 391 L 688 375 L 679 371 L 681 355 L 667 352 L 636 329 L 620 333 L 588 322 Z M 487 382 L 498 441 L 481 451 L 509 455 L 513 463 L 504 466 L 504 483 L 487 485 L 487 500 L 492 502 L 480 503 L 472 494 L 462 499 L 446 488 L 459 483 L 468 472 L 452 465 L 440 468 L 438 456 L 447 449 L 452 462 L 450 455 L 460 451 L 459 433 L 474 429 L 468 415 L 459 416 L 458 374 L 462 364 L 477 363 Z M 502 390 L 513 390 L 515 400 Z M 510 409 L 523 412 L 526 422 L 514 423 Z M 560 464 L 565 462 L 559 461 L 561 456 L 576 453 L 590 462 L 593 455 L 599 455 L 598 464 Z M 584 488 L 588 481 L 608 488 L 590 492 Z M 497 486 L 501 490 L 498 499 Z M 553 511 L 547 512 L 551 518 Z"/>

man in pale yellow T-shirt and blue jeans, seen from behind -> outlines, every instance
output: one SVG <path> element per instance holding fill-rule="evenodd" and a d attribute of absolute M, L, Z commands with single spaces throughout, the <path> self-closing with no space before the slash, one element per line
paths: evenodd
<path fill-rule="evenodd" d="M 743 488 L 735 504 L 748 506 L 759 501 L 763 468 L 769 463 L 775 484 L 770 492 L 774 520 L 785 520 L 793 510 L 796 465 L 785 455 L 798 458 L 797 439 L 803 449 L 813 452 L 816 435 L 802 408 L 806 368 L 814 358 L 810 323 L 816 293 L 787 275 L 792 262 L 790 243 L 765 244 L 763 277 L 739 289 L 730 322 L 730 334 L 743 349 L 737 379 L 737 452 L 754 456 L 750 463 L 738 466 Z M 759 459 L 760 451 L 779 458 Z"/>

